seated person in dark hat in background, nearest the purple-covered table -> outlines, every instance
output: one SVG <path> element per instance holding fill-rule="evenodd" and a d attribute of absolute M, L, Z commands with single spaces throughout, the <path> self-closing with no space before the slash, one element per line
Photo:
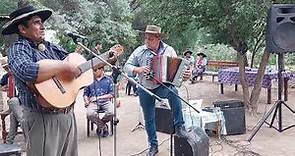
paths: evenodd
<path fill-rule="evenodd" d="M 206 70 L 207 59 L 205 57 L 207 56 L 204 53 L 197 54 L 197 59 L 192 70 L 192 83 L 195 83 L 198 77 L 202 77 L 204 71 Z"/>

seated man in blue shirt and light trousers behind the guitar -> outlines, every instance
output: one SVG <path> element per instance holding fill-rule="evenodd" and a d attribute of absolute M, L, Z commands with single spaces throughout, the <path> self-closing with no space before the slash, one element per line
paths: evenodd
<path fill-rule="evenodd" d="M 98 136 L 106 137 L 109 135 L 107 122 L 113 117 L 113 104 L 111 99 L 114 97 L 113 80 L 104 75 L 104 68 L 98 68 L 93 71 L 94 82 L 84 89 L 84 102 L 87 108 L 87 118 L 97 125 L 96 133 Z M 98 111 L 102 110 L 105 115 L 102 119 Z"/>

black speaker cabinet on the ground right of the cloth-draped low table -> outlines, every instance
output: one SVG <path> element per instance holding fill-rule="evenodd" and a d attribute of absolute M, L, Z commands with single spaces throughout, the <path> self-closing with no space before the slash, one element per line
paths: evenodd
<path fill-rule="evenodd" d="M 220 107 L 223 112 L 227 135 L 246 133 L 245 107 L 242 101 L 216 101 L 213 105 Z"/>

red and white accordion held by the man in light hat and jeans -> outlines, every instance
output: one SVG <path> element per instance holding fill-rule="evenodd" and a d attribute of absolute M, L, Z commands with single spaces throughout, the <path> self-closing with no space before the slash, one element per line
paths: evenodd
<path fill-rule="evenodd" d="M 153 82 L 170 83 L 176 87 L 182 84 L 182 76 L 189 68 L 189 61 L 179 57 L 156 55 L 151 61 Z"/>

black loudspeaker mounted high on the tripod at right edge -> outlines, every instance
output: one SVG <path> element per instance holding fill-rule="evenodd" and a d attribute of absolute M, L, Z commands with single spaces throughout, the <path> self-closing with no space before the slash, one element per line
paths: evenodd
<path fill-rule="evenodd" d="M 266 50 L 295 52 L 295 4 L 275 4 L 267 18 Z"/>

